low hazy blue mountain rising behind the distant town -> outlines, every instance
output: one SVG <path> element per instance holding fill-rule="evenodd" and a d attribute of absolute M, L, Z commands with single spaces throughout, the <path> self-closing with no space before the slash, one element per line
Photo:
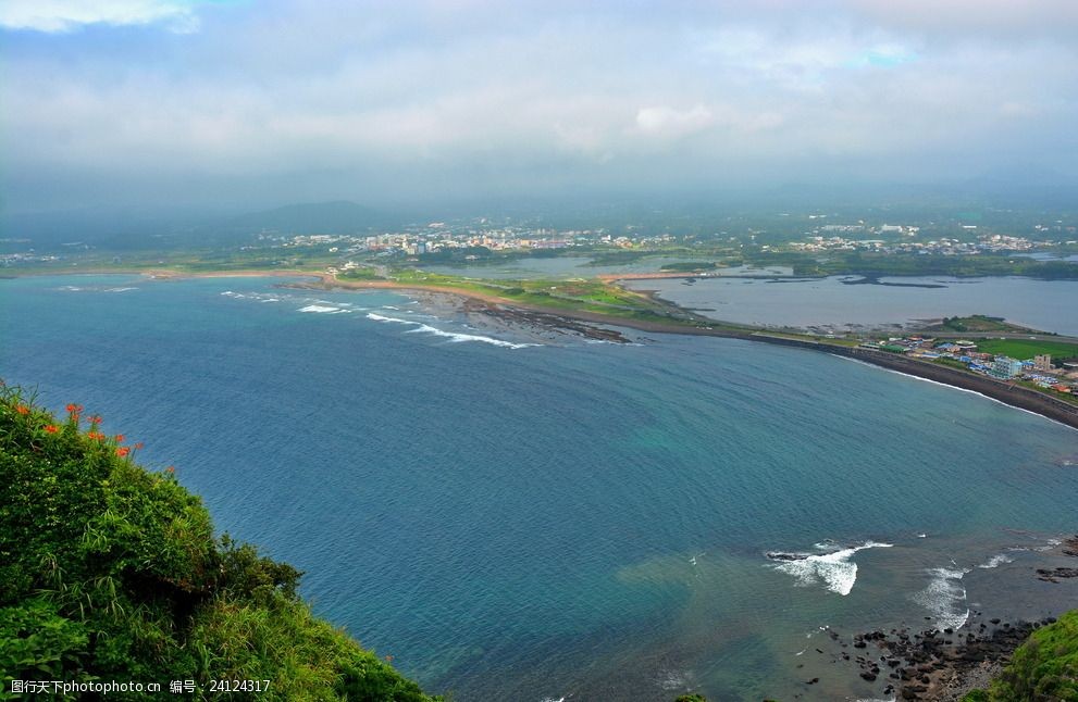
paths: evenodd
<path fill-rule="evenodd" d="M 352 234 L 384 226 L 386 220 L 384 213 L 347 200 L 336 200 L 250 212 L 225 220 L 222 225 L 234 230 L 273 229 L 281 234 Z"/>

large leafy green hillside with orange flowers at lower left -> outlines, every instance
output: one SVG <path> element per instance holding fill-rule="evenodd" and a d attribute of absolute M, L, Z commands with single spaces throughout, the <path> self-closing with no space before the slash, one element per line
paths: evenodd
<path fill-rule="evenodd" d="M 268 681 L 260 700 L 430 702 L 296 594 L 300 573 L 227 536 L 170 467 L 100 417 L 0 387 L 0 699 L 11 680 Z M 72 695 L 78 697 L 78 695 Z M 111 693 L 108 699 L 145 699 Z M 438 698 L 435 698 L 438 699 Z"/>

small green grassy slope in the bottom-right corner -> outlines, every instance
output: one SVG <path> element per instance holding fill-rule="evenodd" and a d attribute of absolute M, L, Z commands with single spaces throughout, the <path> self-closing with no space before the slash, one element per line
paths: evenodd
<path fill-rule="evenodd" d="M 964 702 L 1078 700 L 1078 610 L 1030 635 L 988 690 Z"/>

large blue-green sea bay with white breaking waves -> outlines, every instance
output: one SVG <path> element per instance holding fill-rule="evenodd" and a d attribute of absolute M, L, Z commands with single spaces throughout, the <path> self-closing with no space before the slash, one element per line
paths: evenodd
<path fill-rule="evenodd" d="M 145 441 L 430 691 L 879 698 L 827 627 L 1078 604 L 1031 571 L 1078 529 L 1078 431 L 821 353 L 282 283 L 0 280 L 0 376 Z"/>

